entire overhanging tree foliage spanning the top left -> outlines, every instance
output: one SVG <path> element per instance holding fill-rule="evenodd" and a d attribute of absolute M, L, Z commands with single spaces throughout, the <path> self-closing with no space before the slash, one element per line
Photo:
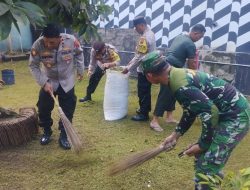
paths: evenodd
<path fill-rule="evenodd" d="M 72 28 L 89 41 L 99 38 L 92 22 L 99 16 L 108 20 L 110 13 L 111 8 L 102 0 L 0 0 L 0 40 L 8 37 L 12 23 L 19 31 L 18 22 L 35 27 L 55 22 Z"/>

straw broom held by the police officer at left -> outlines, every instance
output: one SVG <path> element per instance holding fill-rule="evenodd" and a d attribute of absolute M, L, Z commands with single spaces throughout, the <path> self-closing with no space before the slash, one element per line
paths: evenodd
<path fill-rule="evenodd" d="M 68 137 L 69 143 L 75 153 L 79 153 L 82 149 L 82 142 L 76 133 L 76 130 L 73 128 L 71 122 L 68 120 L 66 115 L 64 114 L 62 108 L 59 106 L 57 99 L 55 98 L 54 94 L 51 93 L 51 97 L 54 99 L 54 102 L 58 108 L 58 112 L 60 115 L 60 119 L 63 123 L 66 135 Z"/>

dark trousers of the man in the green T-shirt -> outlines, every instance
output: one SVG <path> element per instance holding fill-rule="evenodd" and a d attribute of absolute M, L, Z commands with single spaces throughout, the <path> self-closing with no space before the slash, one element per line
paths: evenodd
<path fill-rule="evenodd" d="M 170 88 L 166 85 L 160 86 L 157 102 L 155 105 L 154 115 L 162 117 L 165 111 L 175 110 L 176 99 L 173 96 Z"/>

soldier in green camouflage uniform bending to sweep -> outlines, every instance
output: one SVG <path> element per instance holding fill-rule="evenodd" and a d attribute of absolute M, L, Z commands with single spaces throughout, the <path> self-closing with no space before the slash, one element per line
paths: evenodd
<path fill-rule="evenodd" d="M 175 145 L 195 118 L 201 119 L 201 136 L 184 154 L 197 158 L 196 189 L 209 189 L 198 184 L 197 174 L 219 175 L 232 150 L 249 130 L 248 101 L 222 79 L 170 66 L 159 52 L 148 54 L 142 60 L 142 67 L 151 83 L 168 85 L 183 108 L 180 123 L 164 140 L 163 146 Z"/>

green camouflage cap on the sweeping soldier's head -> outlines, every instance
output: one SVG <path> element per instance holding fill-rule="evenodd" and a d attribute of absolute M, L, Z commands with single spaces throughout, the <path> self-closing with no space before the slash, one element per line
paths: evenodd
<path fill-rule="evenodd" d="M 165 66 L 168 66 L 168 63 L 161 51 L 153 51 L 144 56 L 141 65 L 144 73 L 158 73 Z"/>

